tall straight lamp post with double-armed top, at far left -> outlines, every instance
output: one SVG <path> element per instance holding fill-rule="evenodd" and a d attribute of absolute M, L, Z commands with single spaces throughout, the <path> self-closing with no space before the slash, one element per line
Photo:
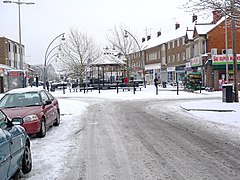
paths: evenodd
<path fill-rule="evenodd" d="M 22 57 L 22 32 L 21 32 L 21 8 L 20 6 L 22 4 L 26 5 L 32 5 L 35 4 L 33 2 L 21 2 L 20 0 L 18 1 L 3 1 L 3 3 L 15 3 L 18 5 L 18 33 L 19 33 L 19 55 L 20 55 L 20 69 L 23 70 L 23 57 Z"/>

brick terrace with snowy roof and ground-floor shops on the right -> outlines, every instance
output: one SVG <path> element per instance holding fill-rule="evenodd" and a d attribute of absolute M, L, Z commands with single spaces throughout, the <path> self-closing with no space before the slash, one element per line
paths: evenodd
<path fill-rule="evenodd" d="M 200 72 L 203 86 L 213 87 L 215 90 L 221 89 L 222 82 L 226 80 L 225 18 L 221 18 L 216 11 L 213 11 L 213 20 L 210 23 L 195 22 L 190 26 L 191 28 L 183 29 L 178 25 L 174 31 L 165 34 L 158 32 L 156 38 L 148 38 L 142 43 L 145 47 L 142 53 L 147 83 L 152 84 L 156 75 L 162 82 L 176 83 L 181 82 L 187 73 Z M 232 83 L 232 32 L 229 26 L 227 30 L 228 74 L 229 83 Z M 237 59 L 240 60 L 240 54 L 238 54 L 240 53 L 240 31 L 238 30 L 236 45 Z M 133 62 L 139 61 L 137 56 L 130 57 Z M 239 72 L 237 76 L 240 76 Z"/>

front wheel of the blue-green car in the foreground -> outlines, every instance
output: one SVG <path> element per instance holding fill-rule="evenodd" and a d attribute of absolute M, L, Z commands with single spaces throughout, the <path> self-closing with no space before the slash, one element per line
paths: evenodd
<path fill-rule="evenodd" d="M 23 159 L 22 159 L 22 172 L 27 174 L 32 170 L 32 156 L 30 147 L 26 144 Z"/>

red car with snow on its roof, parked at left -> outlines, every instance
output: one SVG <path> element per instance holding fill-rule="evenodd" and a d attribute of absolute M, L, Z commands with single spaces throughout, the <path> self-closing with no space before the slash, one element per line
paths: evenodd
<path fill-rule="evenodd" d="M 28 135 L 44 137 L 50 126 L 60 124 L 58 101 L 44 89 L 13 89 L 2 97 L 0 108 L 10 118 L 22 120 Z"/>

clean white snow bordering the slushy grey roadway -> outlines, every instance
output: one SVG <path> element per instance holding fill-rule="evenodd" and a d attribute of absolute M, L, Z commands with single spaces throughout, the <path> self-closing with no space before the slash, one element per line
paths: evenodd
<path fill-rule="evenodd" d="M 40 87 L 42 88 L 42 87 Z M 172 88 L 171 88 L 172 89 Z M 214 132 L 220 132 L 229 136 L 233 140 L 239 138 L 240 131 L 240 104 L 239 103 L 225 103 L 222 102 L 222 92 L 206 92 L 201 93 L 189 93 L 179 91 L 177 95 L 176 91 L 159 91 L 158 95 L 155 92 L 154 85 L 148 85 L 147 88 L 142 91 L 136 91 L 133 94 L 132 91 L 122 92 L 121 90 L 117 94 L 116 90 L 103 90 L 98 93 L 97 90 L 84 94 L 83 92 L 72 92 L 68 90 L 65 94 L 62 91 L 55 91 L 52 94 L 59 99 L 61 108 L 61 124 L 58 127 L 53 127 L 47 131 L 47 135 L 44 138 L 33 138 L 31 139 L 31 151 L 33 157 L 33 169 L 30 174 L 24 176 L 21 179 L 35 180 L 35 179 L 61 179 L 63 177 L 66 166 L 66 158 L 69 152 L 74 150 L 75 138 L 72 138 L 72 134 L 75 134 L 79 130 L 76 124 L 79 124 L 81 117 L 84 117 L 84 113 L 89 106 L 88 103 L 83 101 L 83 98 L 91 98 L 94 102 L 103 102 L 107 99 L 112 100 L 136 100 L 136 99 L 196 99 L 184 103 L 174 103 L 170 108 L 172 111 L 184 113 L 191 117 L 197 118 L 194 124 L 206 123 L 209 128 Z M 77 97 L 76 100 L 69 98 L 60 97 Z M 205 100 L 201 100 L 201 99 Z M 209 98 L 206 100 L 206 98 Z M 216 99 L 217 98 L 217 99 Z M 81 99 L 81 100 L 80 100 Z M 161 108 L 162 104 L 157 104 L 153 107 L 153 111 Z M 185 111 L 181 107 L 186 109 L 219 109 L 219 110 L 234 110 L 233 112 L 211 112 L 211 111 Z M 187 114 L 186 114 L 187 113 Z M 76 121 L 78 123 L 76 123 Z M 81 123 L 80 123 L 81 124 Z M 66 141 L 66 139 L 68 139 Z M 238 139 L 237 139 L 238 140 Z M 49 144 L 49 142 L 51 142 Z M 56 150 L 57 149 L 57 150 Z M 64 160 L 63 160 L 64 159 Z M 45 168 L 42 168 L 45 167 Z"/>

